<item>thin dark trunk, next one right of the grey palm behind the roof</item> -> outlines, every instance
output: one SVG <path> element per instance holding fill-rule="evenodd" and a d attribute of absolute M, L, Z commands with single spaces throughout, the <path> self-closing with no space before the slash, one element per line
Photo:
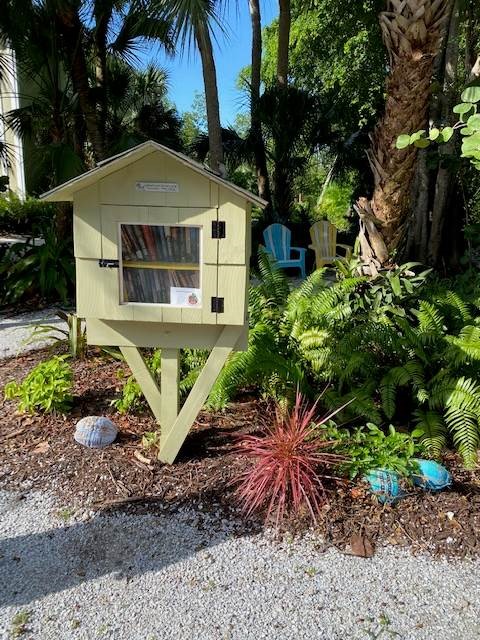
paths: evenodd
<path fill-rule="evenodd" d="M 258 117 L 258 100 L 260 98 L 260 70 L 262 63 L 262 25 L 259 0 L 249 0 L 250 19 L 252 23 L 252 78 L 250 87 L 250 119 L 253 151 L 255 154 L 255 169 L 257 173 L 258 195 L 269 205 L 264 216 L 269 217 L 271 208 L 270 181 L 268 178 L 265 142 L 262 125 Z"/>

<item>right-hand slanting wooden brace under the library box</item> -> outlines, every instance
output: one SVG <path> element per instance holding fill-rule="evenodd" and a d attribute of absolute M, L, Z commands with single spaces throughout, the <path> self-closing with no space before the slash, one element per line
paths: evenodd
<path fill-rule="evenodd" d="M 180 410 L 177 419 L 171 428 L 162 433 L 161 446 L 158 457 L 162 462 L 172 463 L 185 438 L 190 427 L 195 421 L 198 412 L 202 408 L 205 400 L 213 387 L 218 374 L 220 373 L 226 359 L 237 344 L 244 328 L 227 326 L 220 334 L 217 343 L 213 347 L 202 372 L 193 385 L 192 390 L 185 404 Z"/>

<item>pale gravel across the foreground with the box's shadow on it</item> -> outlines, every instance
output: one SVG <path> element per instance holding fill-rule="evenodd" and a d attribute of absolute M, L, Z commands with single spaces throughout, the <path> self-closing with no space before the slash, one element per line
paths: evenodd
<path fill-rule="evenodd" d="M 477 561 L 322 553 L 188 509 L 72 515 L 39 493 L 0 493 L 0 513 L 1 638 L 480 638 Z"/>

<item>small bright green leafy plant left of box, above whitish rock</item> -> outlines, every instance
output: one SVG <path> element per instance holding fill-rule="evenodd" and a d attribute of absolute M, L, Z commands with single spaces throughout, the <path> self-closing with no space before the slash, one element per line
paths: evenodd
<path fill-rule="evenodd" d="M 72 403 L 73 373 L 67 358 L 54 356 L 41 362 L 19 384 L 12 381 L 5 385 L 7 400 L 19 398 L 21 412 L 66 413 Z"/>

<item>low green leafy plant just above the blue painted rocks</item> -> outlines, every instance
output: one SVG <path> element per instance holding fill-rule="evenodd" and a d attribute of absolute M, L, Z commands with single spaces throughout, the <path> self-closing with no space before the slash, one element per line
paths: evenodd
<path fill-rule="evenodd" d="M 417 469 L 414 458 L 423 453 L 423 447 L 412 435 L 400 433 L 392 425 L 385 433 L 371 423 L 353 431 L 330 423 L 326 432 L 335 441 L 335 451 L 345 456 L 341 467 L 352 479 L 374 469 L 388 469 L 408 476 Z"/>

